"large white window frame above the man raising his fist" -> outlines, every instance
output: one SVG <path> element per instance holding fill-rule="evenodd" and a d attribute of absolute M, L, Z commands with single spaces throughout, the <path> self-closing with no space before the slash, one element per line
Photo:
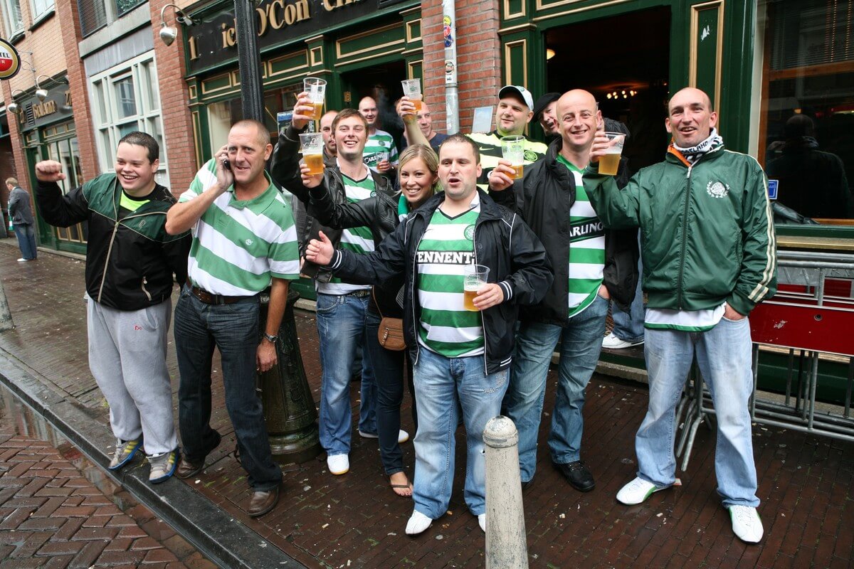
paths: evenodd
<path fill-rule="evenodd" d="M 149 73 L 146 73 L 147 69 Z M 120 116 L 120 103 L 114 94 L 117 84 L 127 78 L 133 80 L 133 95 L 137 112 Z M 117 66 L 110 67 L 102 73 L 91 76 L 89 87 L 100 170 L 102 172 L 115 171 L 115 151 L 123 136 L 122 127 L 132 127 L 134 131 L 147 132 L 158 139 L 156 132 L 151 128 L 154 126 L 156 130 L 160 131 L 158 139 L 160 142 L 160 166 L 155 177 L 158 183 L 166 184 L 169 179 L 166 136 L 163 131 L 155 52 L 152 50 L 137 55 Z"/>

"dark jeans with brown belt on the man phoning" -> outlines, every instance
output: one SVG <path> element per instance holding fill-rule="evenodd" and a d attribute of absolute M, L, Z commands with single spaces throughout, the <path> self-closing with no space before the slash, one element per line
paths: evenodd
<path fill-rule="evenodd" d="M 181 374 L 178 427 L 184 456 L 190 462 L 202 462 L 219 443 L 219 434 L 210 427 L 215 346 L 222 359 L 225 408 L 237 437 L 240 464 L 255 491 L 272 490 L 282 481 L 282 471 L 272 460 L 261 400 L 255 392 L 258 297 L 231 305 L 206 305 L 184 285 L 175 305 L 174 328 Z"/>

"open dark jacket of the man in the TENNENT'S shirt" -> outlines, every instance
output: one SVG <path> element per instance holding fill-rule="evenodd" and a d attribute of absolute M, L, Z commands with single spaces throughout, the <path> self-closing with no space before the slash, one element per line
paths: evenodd
<path fill-rule="evenodd" d="M 478 190 L 479 191 L 479 190 Z M 378 284 L 403 273 L 403 323 L 412 362 L 418 363 L 418 243 L 445 194 L 434 195 L 410 213 L 373 253 L 354 255 L 337 251 L 330 269 L 348 282 Z M 497 206 L 480 192 L 480 215 L 475 224 L 474 253 L 477 264 L 489 267 L 489 282 L 497 282 L 505 301 L 482 312 L 484 371 L 493 374 L 510 365 L 514 327 L 519 305 L 534 305 L 552 283 L 546 251 L 521 218 Z"/>

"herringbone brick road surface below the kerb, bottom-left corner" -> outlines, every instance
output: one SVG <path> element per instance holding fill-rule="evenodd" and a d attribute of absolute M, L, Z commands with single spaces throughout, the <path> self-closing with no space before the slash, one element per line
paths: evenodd
<path fill-rule="evenodd" d="M 71 462 L 79 453 L 63 446 L 16 434 L 0 413 L 0 569 L 213 567 L 147 508 L 117 508 Z"/>

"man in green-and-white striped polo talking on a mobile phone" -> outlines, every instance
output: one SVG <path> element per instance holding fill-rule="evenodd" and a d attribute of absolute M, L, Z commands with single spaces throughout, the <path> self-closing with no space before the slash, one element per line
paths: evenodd
<path fill-rule="evenodd" d="M 192 230 L 189 276 L 175 307 L 181 385 L 178 424 L 184 443 L 180 478 L 202 471 L 219 445 L 210 427 L 211 357 L 222 357 L 225 408 L 237 435 L 240 464 L 253 494 L 246 512 L 266 514 L 278 502 L 282 471 L 273 462 L 255 376 L 277 363 L 276 341 L 299 277 L 290 206 L 264 170 L 272 153 L 266 126 L 241 120 L 169 210 L 167 231 Z M 259 334 L 259 293 L 271 287 L 266 329 Z"/>

